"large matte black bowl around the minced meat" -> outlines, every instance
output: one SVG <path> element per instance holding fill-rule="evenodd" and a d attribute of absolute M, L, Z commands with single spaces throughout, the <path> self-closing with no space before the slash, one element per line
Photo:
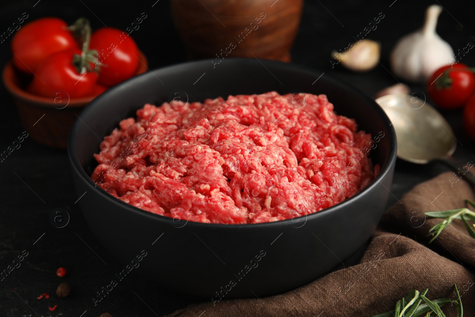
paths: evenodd
<path fill-rule="evenodd" d="M 318 79 L 318 80 L 317 80 Z M 371 152 L 381 172 L 350 199 L 304 217 L 225 225 L 177 221 L 122 202 L 89 178 L 93 154 L 120 120 L 145 103 L 238 94 L 304 91 L 326 94 L 335 112 L 383 135 Z M 176 94 L 178 93 L 178 95 Z M 304 285 L 352 257 L 370 238 L 384 211 L 396 161 L 396 134 L 370 97 L 321 73 L 276 61 L 227 58 L 156 69 L 95 99 L 69 135 L 69 158 L 80 208 L 104 248 L 124 263 L 147 252 L 136 270 L 161 285 L 219 298 L 266 296 Z M 158 240 L 157 240 L 158 239 Z M 219 297 L 218 297 L 219 296 Z"/>

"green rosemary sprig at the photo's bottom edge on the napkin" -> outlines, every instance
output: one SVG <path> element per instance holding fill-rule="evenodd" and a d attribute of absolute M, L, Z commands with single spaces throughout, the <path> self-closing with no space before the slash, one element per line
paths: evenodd
<path fill-rule="evenodd" d="M 452 300 L 450 298 L 439 298 L 435 300 L 430 300 L 426 297 L 428 288 L 419 292 L 416 289 L 413 289 L 409 294 L 398 300 L 396 307 L 393 310 L 387 311 L 382 314 L 373 315 L 372 317 L 430 317 L 432 313 L 435 313 L 437 317 L 447 317 L 440 307 L 445 304 L 452 303 L 456 306 L 457 317 L 464 316 L 464 309 L 462 307 L 462 300 L 460 299 L 460 294 L 458 293 L 457 285 L 454 284 L 455 291 L 457 294 L 457 300 Z M 422 303 L 424 301 L 424 303 Z M 407 303 L 404 305 L 404 303 Z"/>

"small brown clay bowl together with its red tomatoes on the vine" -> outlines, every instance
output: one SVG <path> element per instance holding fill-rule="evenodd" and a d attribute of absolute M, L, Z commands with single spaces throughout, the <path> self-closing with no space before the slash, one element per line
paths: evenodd
<path fill-rule="evenodd" d="M 12 39 L 12 59 L 3 68 L 3 83 L 25 130 L 39 143 L 63 149 L 84 106 L 148 65 L 126 32 L 102 28 L 91 34 L 84 24 L 88 21 L 78 21 L 68 27 L 61 19 L 42 18 L 23 26 Z M 119 61 L 117 54 L 128 61 Z"/>

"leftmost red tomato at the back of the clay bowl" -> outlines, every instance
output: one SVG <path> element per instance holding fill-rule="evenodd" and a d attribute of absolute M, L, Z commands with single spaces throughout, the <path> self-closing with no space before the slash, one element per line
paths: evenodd
<path fill-rule="evenodd" d="M 42 18 L 19 29 L 11 40 L 13 64 L 31 74 L 51 54 L 78 48 L 67 27 L 62 19 Z"/>

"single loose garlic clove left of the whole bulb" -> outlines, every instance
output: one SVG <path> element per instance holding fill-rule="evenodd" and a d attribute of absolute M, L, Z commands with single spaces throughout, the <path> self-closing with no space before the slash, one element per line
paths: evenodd
<path fill-rule="evenodd" d="M 333 50 L 332 57 L 338 63 L 354 71 L 366 71 L 378 65 L 380 59 L 380 44 L 370 39 L 362 39 L 355 44 L 350 44 L 349 52 Z M 337 63 L 337 64 L 338 64 Z"/>

